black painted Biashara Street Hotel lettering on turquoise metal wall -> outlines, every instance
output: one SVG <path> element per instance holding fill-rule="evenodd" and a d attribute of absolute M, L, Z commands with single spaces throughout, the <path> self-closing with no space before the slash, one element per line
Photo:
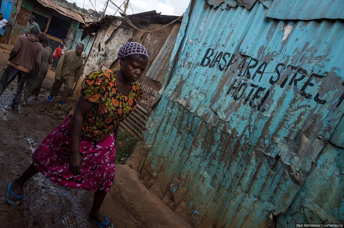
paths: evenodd
<path fill-rule="evenodd" d="M 234 100 L 242 99 L 244 104 L 247 104 L 252 108 L 257 108 L 258 111 L 266 111 L 262 106 L 268 100 L 271 89 L 259 86 L 257 83 L 261 82 L 265 70 L 267 69 L 268 62 L 259 62 L 256 58 L 250 58 L 247 56 L 241 56 L 231 54 L 224 51 L 216 51 L 213 48 L 208 48 L 200 62 L 202 67 L 217 68 L 220 71 L 227 71 L 234 63 L 239 61 L 233 71 L 233 81 L 230 83 L 227 95 L 230 95 Z M 254 71 L 254 69 L 256 69 Z M 254 72 L 254 73 L 253 73 Z M 321 74 L 312 73 L 309 75 L 306 69 L 295 65 L 285 65 L 284 63 L 277 63 L 275 71 L 269 78 L 269 84 L 279 84 L 280 88 L 286 86 L 298 86 L 301 87 L 300 95 L 305 99 L 314 99 L 317 104 L 324 105 L 326 101 L 325 92 L 316 92 L 314 96 L 315 84 L 319 86 L 319 79 L 323 79 Z M 249 80 L 249 82 L 247 82 Z M 342 82 L 344 86 L 344 82 Z M 309 92 L 307 92 L 309 91 Z M 311 92 L 313 95 L 311 94 Z M 246 95 L 247 94 L 247 95 Z M 264 94 L 264 95 L 263 95 Z M 260 99 L 260 100 L 259 100 Z M 344 93 L 337 100 L 336 107 L 338 107 L 344 100 Z"/>

